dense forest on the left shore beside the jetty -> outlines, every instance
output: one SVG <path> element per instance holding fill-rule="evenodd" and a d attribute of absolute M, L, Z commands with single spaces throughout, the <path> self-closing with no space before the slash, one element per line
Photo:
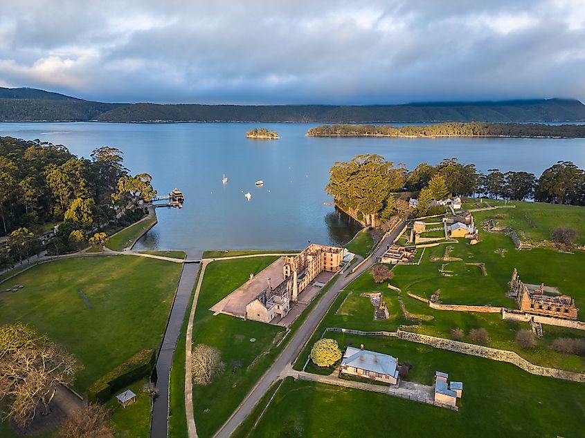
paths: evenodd
<path fill-rule="evenodd" d="M 7 243 L 0 269 L 41 249 L 77 250 L 92 232 L 140 218 L 142 209 L 132 207 L 156 195 L 151 182 L 147 173 L 130 175 L 116 148 L 102 146 L 86 159 L 60 144 L 0 137 L 0 239 Z M 42 242 L 57 225 L 56 235 Z"/>

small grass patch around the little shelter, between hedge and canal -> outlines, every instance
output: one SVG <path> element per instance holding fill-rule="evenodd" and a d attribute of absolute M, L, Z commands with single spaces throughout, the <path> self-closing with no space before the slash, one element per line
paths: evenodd
<path fill-rule="evenodd" d="M 150 437 L 150 413 L 152 399 L 142 391 L 146 379 L 141 379 L 127 388 L 136 394 L 136 402 L 123 408 L 116 397 L 112 397 L 106 407 L 111 410 L 111 422 L 116 429 L 116 438 L 147 438 Z"/>

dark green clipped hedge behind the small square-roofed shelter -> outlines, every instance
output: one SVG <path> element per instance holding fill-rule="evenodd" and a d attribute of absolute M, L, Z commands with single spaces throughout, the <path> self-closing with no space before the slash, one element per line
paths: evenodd
<path fill-rule="evenodd" d="M 105 403 L 116 391 L 138 379 L 150 376 L 156 354 L 153 348 L 147 348 L 111 370 L 104 377 L 87 388 L 87 399 L 90 403 Z"/>

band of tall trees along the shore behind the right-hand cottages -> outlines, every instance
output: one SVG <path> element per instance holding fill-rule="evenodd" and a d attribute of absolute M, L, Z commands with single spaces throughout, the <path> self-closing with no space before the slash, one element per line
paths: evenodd
<path fill-rule="evenodd" d="M 525 171 L 481 173 L 475 164 L 456 158 L 439 164 L 419 164 L 408 171 L 402 164 L 386 161 L 380 155 L 357 155 L 348 162 L 336 162 L 330 169 L 327 193 L 336 205 L 366 225 L 395 214 L 415 216 L 440 213 L 431 207 L 433 200 L 445 196 L 487 196 L 507 200 L 528 200 L 555 204 L 585 205 L 585 171 L 570 161 L 552 164 L 537 178 Z M 415 211 L 396 194 L 418 198 Z"/>

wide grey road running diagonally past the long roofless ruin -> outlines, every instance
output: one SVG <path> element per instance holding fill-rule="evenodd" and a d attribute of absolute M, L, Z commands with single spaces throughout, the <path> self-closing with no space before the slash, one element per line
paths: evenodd
<path fill-rule="evenodd" d="M 258 403 L 264 394 L 266 394 L 271 385 L 278 380 L 280 374 L 285 370 L 285 368 L 287 368 L 287 365 L 292 363 L 296 356 L 298 356 L 301 348 L 303 348 L 307 340 L 312 336 L 317 325 L 321 322 L 321 319 L 323 316 L 325 316 L 327 310 L 329 310 L 341 289 L 351 283 L 352 280 L 366 271 L 366 269 L 371 267 L 375 263 L 377 257 L 384 254 L 384 251 L 386 251 L 386 245 L 392 245 L 395 238 L 398 236 L 400 231 L 402 231 L 405 225 L 406 223 L 402 222 L 386 239 L 384 239 L 384 242 L 381 243 L 377 251 L 375 251 L 375 253 L 370 258 L 368 258 L 366 263 L 363 263 L 363 265 L 361 265 L 361 267 L 359 267 L 356 272 L 348 276 L 339 276 L 335 280 L 335 283 L 332 285 L 332 287 L 330 287 L 330 289 L 323 297 L 321 297 L 315 307 L 313 307 L 313 310 L 311 313 L 309 313 L 303 325 L 298 328 L 285 349 L 282 350 L 278 358 L 276 358 L 276 361 L 267 370 L 267 372 L 264 373 L 264 375 L 260 378 L 260 381 L 258 381 L 257 385 L 253 388 L 253 390 L 251 390 L 246 399 L 242 401 L 240 406 L 237 407 L 228 421 L 224 423 L 224 426 L 219 429 L 217 434 L 215 434 L 215 437 L 227 438 L 235 431 L 237 426 L 240 426 L 240 423 L 242 423 L 242 421 L 244 421 L 250 412 L 252 412 L 256 403 Z"/>

